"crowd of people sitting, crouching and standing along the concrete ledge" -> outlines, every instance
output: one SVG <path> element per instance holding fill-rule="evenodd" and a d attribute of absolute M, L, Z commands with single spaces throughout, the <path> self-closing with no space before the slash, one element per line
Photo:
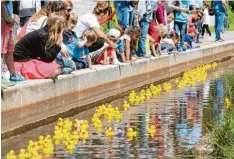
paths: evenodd
<path fill-rule="evenodd" d="M 92 12 L 80 17 L 72 11 L 69 0 L 45 2 L 38 12 L 23 19 L 15 44 L 13 3 L 2 1 L 1 55 L 10 81 L 53 79 L 72 71 L 93 69 L 95 64 L 124 65 L 139 58 L 197 48 L 205 30 L 211 36 L 211 15 L 215 15 L 215 41 L 223 41 L 220 33 L 227 16 L 224 0 L 212 1 L 211 5 L 203 0 L 113 3 L 112 13 L 118 25 L 105 33 L 101 24 L 114 15 L 107 1 L 97 1 Z"/>

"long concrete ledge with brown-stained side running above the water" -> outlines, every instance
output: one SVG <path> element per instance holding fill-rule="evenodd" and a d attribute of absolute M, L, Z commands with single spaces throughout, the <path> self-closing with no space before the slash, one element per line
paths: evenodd
<path fill-rule="evenodd" d="M 228 56 L 234 56 L 234 40 L 128 65 L 95 65 L 96 70 L 59 76 L 56 83 L 45 79 L 17 84 L 4 90 L 2 133 Z"/>

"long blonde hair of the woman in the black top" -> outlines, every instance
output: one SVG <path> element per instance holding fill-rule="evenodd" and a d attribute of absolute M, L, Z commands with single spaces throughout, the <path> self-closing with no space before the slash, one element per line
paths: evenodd
<path fill-rule="evenodd" d="M 51 48 L 55 45 L 59 39 L 62 29 L 64 28 L 64 23 L 66 23 L 65 18 L 59 13 L 52 13 L 47 21 L 49 39 L 46 43 L 46 48 Z"/>

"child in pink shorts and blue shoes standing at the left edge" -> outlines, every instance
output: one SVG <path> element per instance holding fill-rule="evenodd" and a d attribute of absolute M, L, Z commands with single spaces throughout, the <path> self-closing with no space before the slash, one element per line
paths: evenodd
<path fill-rule="evenodd" d="M 7 68 L 10 72 L 10 81 L 25 81 L 25 78 L 19 72 L 15 72 L 14 66 L 13 52 L 15 46 L 13 41 L 13 25 L 16 22 L 11 18 L 13 10 L 12 1 L 1 1 L 1 9 L 1 53 L 5 57 Z"/>

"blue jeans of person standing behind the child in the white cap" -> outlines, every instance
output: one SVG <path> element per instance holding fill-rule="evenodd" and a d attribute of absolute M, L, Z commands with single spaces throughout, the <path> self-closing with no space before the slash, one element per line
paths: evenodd
<path fill-rule="evenodd" d="M 114 1 L 118 23 L 125 28 L 129 27 L 130 3 L 126 1 Z"/>

